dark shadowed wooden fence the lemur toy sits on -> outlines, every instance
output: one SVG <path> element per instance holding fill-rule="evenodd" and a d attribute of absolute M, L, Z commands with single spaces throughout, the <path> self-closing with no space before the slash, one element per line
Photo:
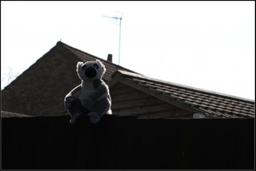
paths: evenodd
<path fill-rule="evenodd" d="M 2 118 L 2 169 L 254 169 L 254 119 Z"/>

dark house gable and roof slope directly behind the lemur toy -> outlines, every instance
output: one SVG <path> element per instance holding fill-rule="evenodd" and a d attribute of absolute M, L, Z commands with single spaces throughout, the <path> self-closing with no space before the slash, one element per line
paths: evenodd
<path fill-rule="evenodd" d="M 59 41 L 1 91 L 1 110 L 33 116 L 68 114 L 64 108 L 65 95 L 81 84 L 76 64 L 95 58 L 106 66 L 103 76 L 106 82 L 116 69 L 133 72 Z"/>

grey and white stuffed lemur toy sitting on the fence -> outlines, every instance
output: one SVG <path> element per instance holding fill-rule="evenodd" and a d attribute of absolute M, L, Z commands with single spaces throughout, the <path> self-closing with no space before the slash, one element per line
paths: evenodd
<path fill-rule="evenodd" d="M 87 114 L 91 123 L 96 124 L 103 114 L 112 114 L 109 87 L 101 80 L 105 66 L 99 61 L 77 63 L 77 74 L 82 83 L 65 97 L 65 108 L 75 124 L 82 114 Z"/>

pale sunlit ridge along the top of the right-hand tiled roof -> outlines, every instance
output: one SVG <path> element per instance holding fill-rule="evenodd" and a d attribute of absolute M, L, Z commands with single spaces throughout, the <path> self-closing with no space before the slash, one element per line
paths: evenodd
<path fill-rule="evenodd" d="M 246 99 L 246 98 L 243 98 L 243 97 L 234 96 L 234 95 L 230 95 L 230 94 L 224 94 L 224 93 L 220 93 L 220 92 L 215 92 L 215 91 L 210 91 L 210 90 L 206 90 L 206 89 L 186 86 L 186 85 L 183 85 L 183 84 L 164 81 L 164 80 L 160 80 L 160 79 L 156 79 L 156 78 L 152 78 L 152 77 L 148 77 L 148 76 L 144 76 L 144 75 L 138 75 L 138 74 L 135 74 L 135 73 L 132 73 L 132 72 L 129 72 L 129 71 L 123 71 L 123 70 L 118 69 L 116 72 L 120 72 L 122 75 L 126 75 L 128 77 L 129 76 L 130 77 L 131 76 L 132 77 L 138 77 L 140 79 L 150 80 L 150 81 L 157 82 L 157 83 L 162 83 L 162 84 L 165 84 L 165 85 L 172 85 L 172 86 L 176 86 L 176 87 L 185 88 L 185 89 L 188 89 L 188 90 L 194 90 L 194 91 L 198 91 L 198 92 L 204 92 L 204 93 L 208 93 L 208 94 L 218 95 L 218 96 L 221 96 L 221 97 L 227 97 L 229 99 L 236 99 L 236 100 L 240 100 L 240 101 L 243 101 L 243 102 L 255 103 L 255 101 L 251 100 L 251 99 Z"/>

